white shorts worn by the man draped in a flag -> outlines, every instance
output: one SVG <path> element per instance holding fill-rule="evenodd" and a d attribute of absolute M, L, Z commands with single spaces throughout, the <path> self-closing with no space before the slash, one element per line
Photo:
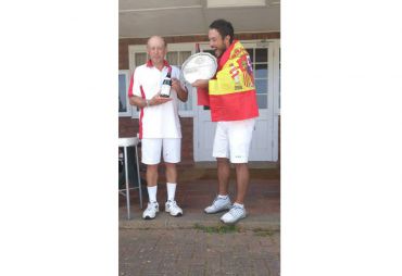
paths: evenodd
<path fill-rule="evenodd" d="M 255 118 L 217 122 L 212 155 L 230 158 L 230 163 L 247 163 Z"/>

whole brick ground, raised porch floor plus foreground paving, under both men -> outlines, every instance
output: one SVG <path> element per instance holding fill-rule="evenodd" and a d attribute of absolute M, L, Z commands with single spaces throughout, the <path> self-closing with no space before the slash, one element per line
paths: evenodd
<path fill-rule="evenodd" d="M 236 229 L 226 229 L 221 214 L 204 214 L 216 195 L 216 171 L 186 168 L 179 172 L 176 201 L 181 217 L 164 212 L 163 174 L 158 188 L 161 212 L 141 218 L 138 191 L 133 192 L 131 219 L 126 219 L 120 198 L 118 266 L 125 276 L 142 275 L 261 275 L 278 276 L 280 268 L 279 170 L 251 170 L 246 198 L 248 217 Z M 229 195 L 235 193 L 231 174 Z M 148 198 L 143 198 L 147 206 Z M 226 229 L 217 233 L 216 229 Z"/>

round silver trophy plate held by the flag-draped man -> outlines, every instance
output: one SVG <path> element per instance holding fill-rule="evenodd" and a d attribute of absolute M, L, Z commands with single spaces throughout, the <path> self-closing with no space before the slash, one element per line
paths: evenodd
<path fill-rule="evenodd" d="M 183 63 L 181 72 L 185 80 L 192 84 L 197 79 L 211 79 L 215 75 L 216 68 L 215 57 L 211 53 L 199 52 L 192 54 Z"/>

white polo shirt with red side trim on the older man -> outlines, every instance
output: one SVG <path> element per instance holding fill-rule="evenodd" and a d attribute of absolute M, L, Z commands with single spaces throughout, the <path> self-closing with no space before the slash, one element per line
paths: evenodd
<path fill-rule="evenodd" d="M 161 87 L 167 72 L 172 70 L 172 78 L 180 79 L 180 70 L 171 66 L 164 61 L 164 67 L 159 71 L 151 61 L 136 67 L 128 89 L 128 97 L 133 95 L 150 100 Z M 185 89 L 184 83 L 180 80 Z M 178 118 L 177 92 L 171 89 L 172 101 L 163 104 L 141 109 L 139 116 L 139 138 L 181 138 L 180 122 Z"/>

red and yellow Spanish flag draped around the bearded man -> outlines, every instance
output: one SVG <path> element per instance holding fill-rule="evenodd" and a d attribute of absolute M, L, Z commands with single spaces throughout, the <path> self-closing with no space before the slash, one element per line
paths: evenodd
<path fill-rule="evenodd" d="M 235 40 L 219 59 L 209 92 L 198 90 L 198 103 L 211 106 L 213 122 L 259 116 L 251 60 L 239 41 Z"/>

